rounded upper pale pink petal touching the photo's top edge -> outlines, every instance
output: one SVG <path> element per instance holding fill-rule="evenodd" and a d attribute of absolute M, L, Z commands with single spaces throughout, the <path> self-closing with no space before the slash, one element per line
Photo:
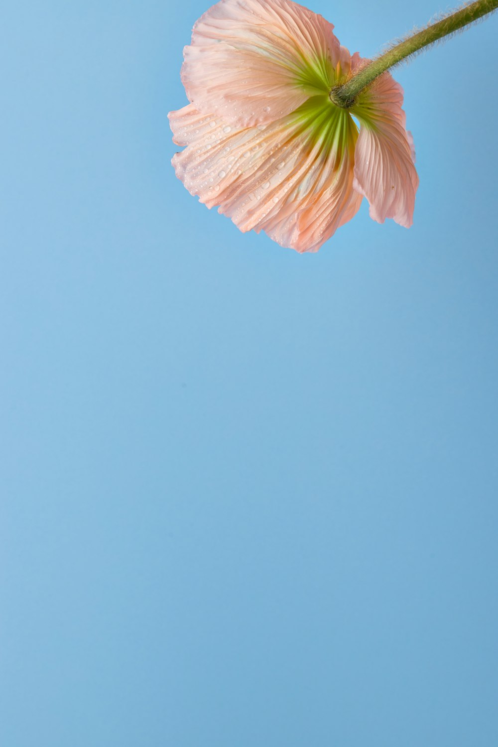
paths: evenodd
<path fill-rule="evenodd" d="M 221 0 L 184 49 L 187 98 L 240 128 L 278 120 L 349 72 L 333 28 L 290 0 Z"/>

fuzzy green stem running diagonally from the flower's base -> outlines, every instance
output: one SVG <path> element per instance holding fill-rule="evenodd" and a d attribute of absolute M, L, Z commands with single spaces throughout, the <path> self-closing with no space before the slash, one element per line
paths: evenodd
<path fill-rule="evenodd" d="M 414 55 L 419 49 L 443 39 L 448 34 L 454 34 L 458 29 L 464 28 L 464 26 L 482 18 L 487 13 L 491 13 L 497 7 L 498 0 L 477 0 L 465 4 L 460 10 L 455 10 L 455 13 L 451 13 L 441 21 L 432 23 L 422 31 L 417 31 L 408 39 L 393 46 L 384 55 L 368 63 L 352 78 L 349 78 L 349 81 L 333 88 L 330 92 L 330 98 L 337 106 L 348 108 L 355 102 L 358 93 L 370 86 L 376 78 L 379 78 L 379 75 L 382 75 L 390 67 L 397 65 L 410 55 Z"/>

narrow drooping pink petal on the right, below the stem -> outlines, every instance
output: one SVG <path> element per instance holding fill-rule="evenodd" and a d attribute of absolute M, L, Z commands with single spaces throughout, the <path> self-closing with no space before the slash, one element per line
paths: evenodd
<path fill-rule="evenodd" d="M 353 69 L 361 63 L 353 55 Z M 361 94 L 352 107 L 360 121 L 355 150 L 353 187 L 370 203 L 370 217 L 377 223 L 393 218 L 400 226 L 413 223 L 415 193 L 419 184 L 414 167 L 411 133 L 405 128 L 403 90 L 385 72 Z"/>

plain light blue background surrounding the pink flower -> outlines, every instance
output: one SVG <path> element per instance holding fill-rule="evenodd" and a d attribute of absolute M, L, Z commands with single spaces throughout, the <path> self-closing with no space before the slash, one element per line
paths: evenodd
<path fill-rule="evenodd" d="M 169 165 L 206 7 L 1 12 L 0 743 L 497 745 L 497 19 L 396 72 L 413 228 L 300 256 Z"/>

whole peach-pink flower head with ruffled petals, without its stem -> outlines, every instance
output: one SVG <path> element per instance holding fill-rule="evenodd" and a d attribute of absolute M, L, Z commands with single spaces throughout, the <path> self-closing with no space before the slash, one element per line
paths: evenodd
<path fill-rule="evenodd" d="M 348 109 L 330 90 L 364 63 L 291 0 L 221 0 L 194 25 L 169 114 L 176 175 L 241 231 L 316 252 L 365 196 L 411 226 L 418 186 L 403 92 L 388 72 Z M 360 123 L 359 133 L 356 120 Z"/>

